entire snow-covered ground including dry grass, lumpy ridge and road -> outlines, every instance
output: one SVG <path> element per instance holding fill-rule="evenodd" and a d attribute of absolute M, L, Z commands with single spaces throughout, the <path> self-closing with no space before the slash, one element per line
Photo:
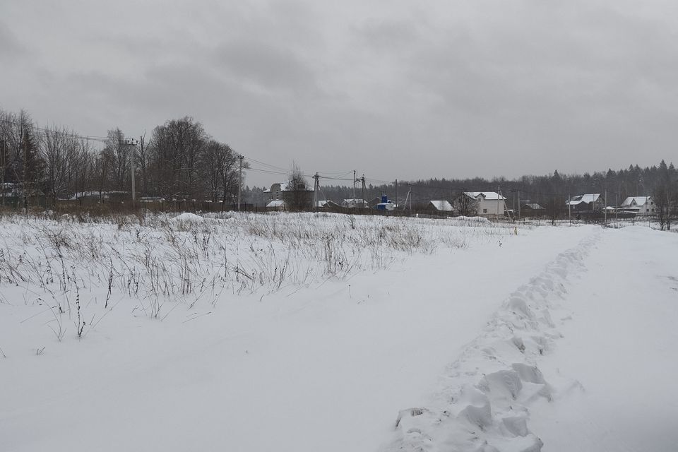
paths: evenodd
<path fill-rule="evenodd" d="M 677 250 L 641 226 L 3 218 L 0 451 L 675 450 Z"/>

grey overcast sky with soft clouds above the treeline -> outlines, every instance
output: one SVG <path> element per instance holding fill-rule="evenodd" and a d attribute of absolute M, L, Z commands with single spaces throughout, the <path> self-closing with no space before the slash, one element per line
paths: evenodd
<path fill-rule="evenodd" d="M 678 160 L 678 2 L 2 0 L 0 82 L 41 125 L 189 115 L 308 173 L 656 165 Z"/>

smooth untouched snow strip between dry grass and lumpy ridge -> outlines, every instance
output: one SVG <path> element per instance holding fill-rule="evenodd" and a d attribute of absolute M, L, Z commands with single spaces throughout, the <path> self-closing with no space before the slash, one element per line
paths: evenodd
<path fill-rule="evenodd" d="M 0 305 L 0 450 L 374 451 L 516 287 L 597 230 L 521 231 L 162 322 L 119 307 L 79 342 L 20 323 L 41 307 Z"/>

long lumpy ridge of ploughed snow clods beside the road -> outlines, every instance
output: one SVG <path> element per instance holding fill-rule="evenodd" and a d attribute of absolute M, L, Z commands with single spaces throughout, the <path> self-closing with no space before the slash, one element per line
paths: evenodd
<path fill-rule="evenodd" d="M 446 381 L 423 407 L 406 408 L 387 451 L 538 452 L 530 408 L 551 402 L 553 388 L 537 367 L 560 337 L 552 309 L 585 272 L 600 231 L 561 252 L 506 297 L 482 333 L 448 367 Z"/>

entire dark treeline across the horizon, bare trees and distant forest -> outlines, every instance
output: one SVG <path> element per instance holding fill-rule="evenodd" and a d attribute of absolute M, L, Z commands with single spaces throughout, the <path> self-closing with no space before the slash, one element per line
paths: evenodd
<path fill-rule="evenodd" d="M 168 120 L 130 144 L 119 128 L 110 129 L 106 136 L 82 136 L 64 127 L 40 127 L 25 110 L 0 110 L 0 182 L 5 195 L 11 191 L 14 196 L 39 195 L 56 201 L 83 194 L 125 194 L 131 186 L 132 156 L 140 198 L 236 201 L 241 181 L 239 155 L 191 117 Z M 271 174 L 270 184 L 288 178 Z M 307 179 L 308 186 L 313 186 Z M 664 160 L 651 167 L 629 165 L 583 174 L 554 170 L 518 179 L 426 179 L 400 181 L 397 186 L 395 181 L 375 182 L 364 188 L 361 182 L 349 181 L 347 186 L 325 182 L 335 181 L 321 177 L 319 200 L 338 202 L 346 198 L 369 201 L 386 194 L 400 205 L 408 199 L 416 206 L 432 200 L 453 201 L 463 191 L 500 190 L 508 208 L 516 203 L 539 203 L 553 215 L 565 210 L 569 196 L 591 193 L 607 194 L 608 206 L 619 206 L 629 196 L 651 195 L 664 199 L 669 208 L 678 207 L 678 172 Z M 244 186 L 243 203 L 266 206 L 263 192 L 270 184 Z"/>

